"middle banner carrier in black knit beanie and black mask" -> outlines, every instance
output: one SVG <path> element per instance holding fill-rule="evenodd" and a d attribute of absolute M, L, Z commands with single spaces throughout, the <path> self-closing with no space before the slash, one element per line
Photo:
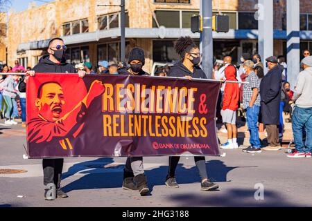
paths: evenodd
<path fill-rule="evenodd" d="M 132 48 L 129 53 L 128 64 L 130 68 L 119 69 L 120 75 L 148 75 L 142 67 L 145 64 L 144 50 Z M 139 190 L 140 195 L 146 195 L 150 191 L 147 186 L 147 178 L 144 174 L 143 157 L 128 157 L 123 169 L 123 189 Z"/>

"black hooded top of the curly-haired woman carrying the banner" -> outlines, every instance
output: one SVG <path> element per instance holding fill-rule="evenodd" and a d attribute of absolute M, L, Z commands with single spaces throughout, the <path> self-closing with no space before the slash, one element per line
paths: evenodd
<path fill-rule="evenodd" d="M 184 77 L 186 75 L 189 75 L 193 78 L 207 79 L 207 76 L 205 75 L 202 68 L 200 68 L 200 66 L 194 66 L 193 73 L 191 73 L 191 71 L 189 71 L 189 69 L 187 69 L 187 67 L 184 66 L 182 61 L 179 61 L 176 64 L 174 64 L 168 73 L 169 77 Z"/>

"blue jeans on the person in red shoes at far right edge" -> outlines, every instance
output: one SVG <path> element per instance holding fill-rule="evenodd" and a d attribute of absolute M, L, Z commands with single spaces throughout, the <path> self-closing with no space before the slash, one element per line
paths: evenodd
<path fill-rule="evenodd" d="M 293 111 L 293 138 L 300 153 L 312 153 L 312 108 L 295 107 Z M 306 141 L 304 142 L 304 134 Z"/>

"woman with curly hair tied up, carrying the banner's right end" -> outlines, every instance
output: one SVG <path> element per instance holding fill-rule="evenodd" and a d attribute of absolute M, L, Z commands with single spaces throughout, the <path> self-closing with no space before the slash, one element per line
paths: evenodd
<path fill-rule="evenodd" d="M 194 44 L 191 37 L 180 37 L 175 42 L 175 51 L 182 57 L 182 60 L 177 62 L 168 73 L 169 77 L 186 77 L 187 79 L 201 78 L 207 79 L 205 73 L 198 64 L 200 63 L 200 50 Z M 180 157 L 169 157 L 168 175 L 166 177 L 166 186 L 171 188 L 179 187 L 175 180 L 175 169 L 180 160 Z M 202 178 L 201 190 L 209 191 L 218 189 L 218 184 L 209 182 L 206 171 L 205 156 L 194 157 L 196 166 Z"/>

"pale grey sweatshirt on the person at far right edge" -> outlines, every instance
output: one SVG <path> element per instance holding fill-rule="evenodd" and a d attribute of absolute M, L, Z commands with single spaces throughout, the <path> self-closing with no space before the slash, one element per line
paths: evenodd
<path fill-rule="evenodd" d="M 312 67 L 299 73 L 293 101 L 300 108 L 312 108 Z"/>

